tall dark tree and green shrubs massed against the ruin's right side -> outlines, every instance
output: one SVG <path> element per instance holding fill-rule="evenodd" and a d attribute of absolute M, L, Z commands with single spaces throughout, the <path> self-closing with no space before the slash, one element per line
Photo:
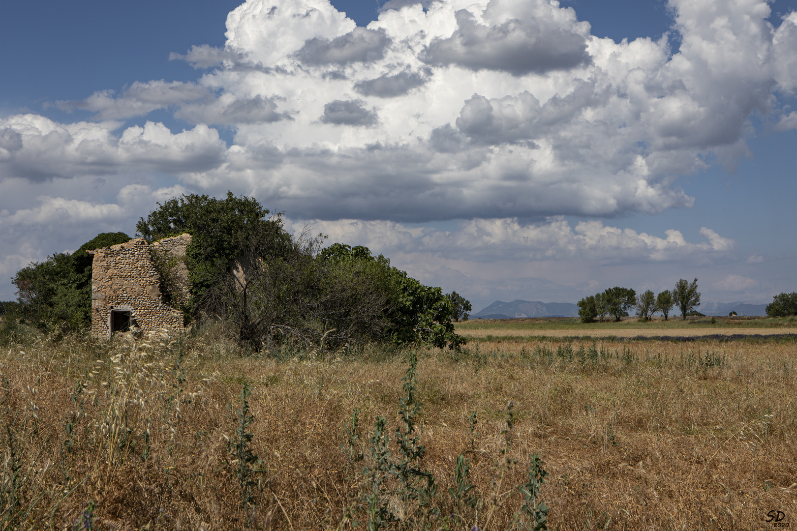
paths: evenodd
<path fill-rule="evenodd" d="M 225 320 L 246 349 L 420 342 L 459 346 L 454 306 L 364 247 L 292 236 L 252 197 L 183 195 L 139 219 L 149 241 L 188 232 L 186 310 Z"/>

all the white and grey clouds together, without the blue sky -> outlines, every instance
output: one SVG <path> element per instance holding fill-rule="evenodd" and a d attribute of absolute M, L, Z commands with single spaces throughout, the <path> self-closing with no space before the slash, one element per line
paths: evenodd
<path fill-rule="evenodd" d="M 197 80 L 57 102 L 82 113 L 73 123 L 0 118 L 0 275 L 131 231 L 155 201 L 227 189 L 485 298 L 617 282 L 596 265 L 645 262 L 664 278 L 740 260 L 712 228 L 687 241 L 562 216 L 688 207 L 677 177 L 746 156 L 753 115 L 797 127 L 783 103 L 797 92 L 797 14 L 772 25 L 759 0 L 669 0 L 669 35 L 615 43 L 556 1 L 426 4 L 393 0 L 363 28 L 326 0 L 250 0 L 222 49 L 172 54 Z M 186 130 L 150 115 L 164 111 Z M 465 221 L 419 226 L 446 220 Z M 716 286 L 755 282 L 734 272 Z"/>

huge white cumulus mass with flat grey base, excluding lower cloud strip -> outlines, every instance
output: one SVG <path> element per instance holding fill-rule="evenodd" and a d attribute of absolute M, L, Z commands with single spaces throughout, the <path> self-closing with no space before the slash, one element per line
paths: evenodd
<path fill-rule="evenodd" d="M 426 221 L 659 213 L 673 176 L 747 153 L 754 112 L 795 120 L 797 14 L 758 0 L 671 0 L 668 37 L 615 43 L 558 2 L 442 0 L 356 27 L 325 0 L 250 0 L 197 82 L 135 82 L 0 121 L 0 170 L 41 180 L 138 169 L 294 217 Z M 120 129 L 167 109 L 194 123 Z M 793 113 L 792 113 L 793 114 Z M 232 127 L 226 146 L 214 127 Z"/>

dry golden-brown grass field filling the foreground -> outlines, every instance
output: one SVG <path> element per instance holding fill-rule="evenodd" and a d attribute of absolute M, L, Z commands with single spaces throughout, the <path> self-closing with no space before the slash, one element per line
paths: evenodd
<path fill-rule="evenodd" d="M 438 486 L 426 506 L 379 469 L 402 454 L 409 351 L 245 357 L 213 328 L 12 346 L 2 529 L 367 529 L 374 493 L 398 519 L 382 529 L 525 529 L 517 486 L 533 454 L 548 529 L 771 529 L 771 510 L 797 525 L 793 338 L 473 340 L 417 355 L 418 463 Z M 457 498 L 458 455 L 473 502 Z"/>

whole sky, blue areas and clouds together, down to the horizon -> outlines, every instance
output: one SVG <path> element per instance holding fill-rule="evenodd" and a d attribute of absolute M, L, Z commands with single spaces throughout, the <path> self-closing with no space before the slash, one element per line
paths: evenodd
<path fill-rule="evenodd" d="M 797 290 L 797 6 L 727 3 L 2 0 L 0 275 L 231 189 L 474 307 L 768 302 Z"/>

